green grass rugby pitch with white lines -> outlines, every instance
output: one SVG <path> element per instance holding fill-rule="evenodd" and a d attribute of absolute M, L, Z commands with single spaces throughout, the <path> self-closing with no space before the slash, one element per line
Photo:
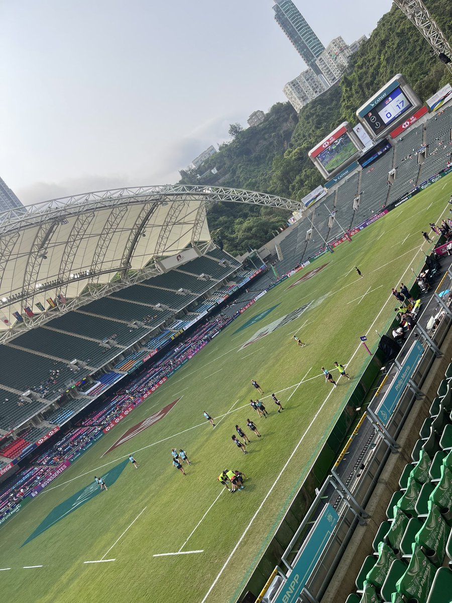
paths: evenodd
<path fill-rule="evenodd" d="M 337 360 L 352 377 L 360 374 L 367 357 L 359 336 L 366 334 L 375 349 L 375 329 L 383 332 L 394 317 L 391 288 L 413 282 L 411 269 L 419 270 L 428 250 L 421 230 L 449 215 L 451 193 L 449 176 L 269 291 L 6 523 L 0 529 L 0 569 L 11 568 L 1 572 L 5 601 L 234 602 L 356 383 L 340 379 L 333 389 L 321 366 L 332 370 Z M 308 303 L 300 317 L 240 349 L 262 327 Z M 295 332 L 306 347 L 291 339 Z M 249 405 L 256 397 L 251 379 L 265 391 L 268 418 L 257 418 Z M 272 392 L 283 403 L 281 414 Z M 178 398 L 159 423 L 102 456 L 125 431 Z M 204 410 L 216 417 L 215 429 Z M 248 417 L 262 438 L 247 431 L 245 456 L 231 435 L 236 423 L 246 431 Z M 192 460 L 185 477 L 172 467 L 172 447 Z M 139 470 L 121 465 L 129 453 Z M 226 467 L 248 476 L 234 496 L 216 481 Z M 94 475 L 106 473 L 110 487 L 96 494 Z M 67 499 L 74 510 L 64 515 L 58 505 Z M 24 545 L 51 513 L 52 525 Z M 202 552 L 154 557 L 189 551 Z M 102 558 L 115 561 L 84 563 Z"/>

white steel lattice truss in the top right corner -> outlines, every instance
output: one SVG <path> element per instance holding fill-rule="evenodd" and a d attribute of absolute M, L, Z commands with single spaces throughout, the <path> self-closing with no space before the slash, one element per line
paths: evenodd
<path fill-rule="evenodd" d="M 394 4 L 418 28 L 425 40 L 432 46 L 439 60 L 452 73 L 452 46 L 428 12 L 424 2 L 422 0 L 394 0 Z"/>

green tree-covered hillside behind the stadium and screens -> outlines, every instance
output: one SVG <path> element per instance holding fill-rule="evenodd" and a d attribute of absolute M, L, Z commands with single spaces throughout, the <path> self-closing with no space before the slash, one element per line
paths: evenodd
<path fill-rule="evenodd" d="M 451 40 L 452 2 L 424 1 Z M 303 107 L 298 115 L 289 103 L 277 103 L 256 127 L 240 130 L 239 124 L 231 124 L 230 142 L 222 144 L 197 170 L 181 171 L 180 182 L 221 183 L 300 200 L 324 183 L 307 157 L 310 148 L 342 121 L 356 124 L 357 107 L 398 73 L 405 75 L 422 101 L 451 81 L 419 31 L 393 5 L 351 57 L 339 85 Z M 213 168 L 216 174 L 210 171 Z M 286 223 L 287 212 L 218 203 L 209 210 L 208 219 L 213 238 L 222 239 L 225 250 L 243 253 L 268 241 Z"/>

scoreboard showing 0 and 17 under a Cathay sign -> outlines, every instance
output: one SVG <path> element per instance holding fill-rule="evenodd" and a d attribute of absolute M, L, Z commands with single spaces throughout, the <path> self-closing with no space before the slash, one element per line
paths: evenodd
<path fill-rule="evenodd" d="M 374 140 L 385 137 L 421 107 L 421 100 L 403 75 L 395 75 L 357 112 L 357 118 Z"/>

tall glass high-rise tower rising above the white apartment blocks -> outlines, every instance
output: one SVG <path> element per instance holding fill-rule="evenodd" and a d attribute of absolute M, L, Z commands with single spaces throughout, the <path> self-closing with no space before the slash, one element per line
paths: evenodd
<path fill-rule="evenodd" d="M 292 0 L 276 0 L 273 7 L 275 20 L 297 49 L 304 62 L 317 75 L 321 75 L 316 58 L 325 50 L 306 19 Z"/>

